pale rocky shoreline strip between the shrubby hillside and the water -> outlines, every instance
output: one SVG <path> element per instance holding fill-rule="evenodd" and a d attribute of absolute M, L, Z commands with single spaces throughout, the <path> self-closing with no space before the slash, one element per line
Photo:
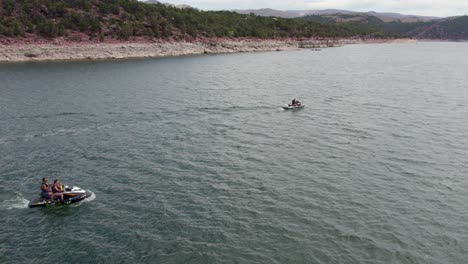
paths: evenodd
<path fill-rule="evenodd" d="M 200 39 L 195 41 L 0 44 L 0 63 L 117 60 L 200 54 L 322 49 L 349 44 L 412 42 L 410 39 Z"/>

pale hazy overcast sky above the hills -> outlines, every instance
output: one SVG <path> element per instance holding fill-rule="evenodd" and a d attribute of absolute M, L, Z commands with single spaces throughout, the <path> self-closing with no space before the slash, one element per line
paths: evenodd
<path fill-rule="evenodd" d="M 468 0 L 161 0 L 202 10 L 273 8 L 279 10 L 344 9 L 395 12 L 422 16 L 455 16 L 468 13 Z"/>

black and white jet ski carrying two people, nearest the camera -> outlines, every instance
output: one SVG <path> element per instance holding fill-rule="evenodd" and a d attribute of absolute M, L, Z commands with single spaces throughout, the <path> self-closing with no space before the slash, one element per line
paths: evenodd
<path fill-rule="evenodd" d="M 91 197 L 92 193 L 86 190 L 83 190 L 77 186 L 65 186 L 63 191 L 63 201 L 60 200 L 60 197 L 55 197 L 54 200 L 39 197 L 37 199 L 31 200 L 28 204 L 30 208 L 33 207 L 45 207 L 53 205 L 67 205 L 72 203 L 81 202 L 84 199 Z"/>

